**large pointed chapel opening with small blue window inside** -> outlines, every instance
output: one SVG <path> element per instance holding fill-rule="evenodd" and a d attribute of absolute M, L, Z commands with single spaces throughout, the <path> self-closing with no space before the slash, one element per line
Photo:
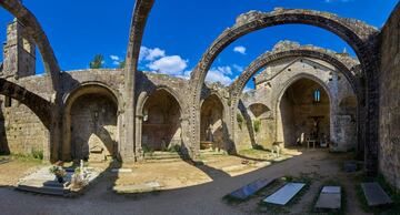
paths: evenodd
<path fill-rule="evenodd" d="M 277 113 L 277 142 L 284 146 L 327 143 L 330 136 L 330 100 L 321 84 L 299 79 L 286 89 Z"/>

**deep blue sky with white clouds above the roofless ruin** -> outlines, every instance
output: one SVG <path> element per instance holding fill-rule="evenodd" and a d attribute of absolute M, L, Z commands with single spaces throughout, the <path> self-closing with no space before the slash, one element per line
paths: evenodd
<path fill-rule="evenodd" d="M 37 16 L 62 70 L 88 68 L 94 54 L 114 68 L 124 58 L 133 0 L 24 0 Z M 140 69 L 187 76 L 211 42 L 236 18 L 249 10 L 276 7 L 322 10 L 381 28 L 398 0 L 157 0 L 146 28 Z M 0 40 L 12 17 L 0 9 Z M 209 81 L 229 84 L 241 70 L 280 40 L 350 50 L 337 35 L 308 25 L 290 24 L 248 34 L 229 45 L 216 60 Z M 0 58 L 2 61 L 2 57 Z M 43 66 L 38 58 L 37 73 Z"/>

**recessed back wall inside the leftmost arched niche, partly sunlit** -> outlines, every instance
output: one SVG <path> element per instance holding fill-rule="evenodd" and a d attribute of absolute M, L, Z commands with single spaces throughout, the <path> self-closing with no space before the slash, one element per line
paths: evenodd
<path fill-rule="evenodd" d="M 71 108 L 73 160 L 103 161 L 117 154 L 118 104 L 98 93 L 78 98 Z"/>

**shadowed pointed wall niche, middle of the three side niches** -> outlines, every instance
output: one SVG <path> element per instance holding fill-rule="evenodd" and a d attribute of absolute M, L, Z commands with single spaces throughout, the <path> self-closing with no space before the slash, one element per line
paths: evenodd
<path fill-rule="evenodd" d="M 177 151 L 182 144 L 178 100 L 167 90 L 157 90 L 144 102 L 142 112 L 143 152 Z"/>

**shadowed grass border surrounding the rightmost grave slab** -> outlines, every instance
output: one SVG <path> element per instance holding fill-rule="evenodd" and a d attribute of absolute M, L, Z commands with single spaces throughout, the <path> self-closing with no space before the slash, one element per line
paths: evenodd
<path fill-rule="evenodd" d="M 390 198 L 393 201 L 391 205 L 382 205 L 382 206 L 376 206 L 370 207 L 368 206 L 366 196 L 363 194 L 363 191 L 361 188 L 361 184 L 363 182 L 377 182 L 379 183 L 383 191 L 388 193 Z M 359 198 L 361 203 L 362 211 L 367 213 L 373 213 L 373 214 L 400 214 L 400 192 L 394 186 L 390 185 L 382 175 L 379 175 L 378 177 L 367 177 L 364 175 L 360 175 L 357 178 L 357 197 Z"/>

